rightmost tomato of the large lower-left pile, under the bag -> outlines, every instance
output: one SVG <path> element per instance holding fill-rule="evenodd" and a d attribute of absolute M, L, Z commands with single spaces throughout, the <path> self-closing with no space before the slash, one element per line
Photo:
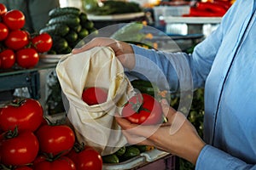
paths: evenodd
<path fill-rule="evenodd" d="M 80 144 L 79 148 L 71 150 L 67 157 L 73 160 L 77 170 L 102 170 L 102 156 L 90 146 Z"/>

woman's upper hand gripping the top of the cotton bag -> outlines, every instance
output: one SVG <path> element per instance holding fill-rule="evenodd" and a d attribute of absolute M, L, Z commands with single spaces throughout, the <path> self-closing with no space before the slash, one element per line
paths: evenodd
<path fill-rule="evenodd" d="M 74 48 L 72 54 L 78 54 L 83 51 L 95 47 L 110 47 L 113 49 L 116 57 L 122 65 L 127 69 L 133 69 L 135 66 L 135 57 L 131 45 L 126 42 L 119 42 L 108 37 L 96 37 L 90 42 L 86 43 L 82 48 Z"/>

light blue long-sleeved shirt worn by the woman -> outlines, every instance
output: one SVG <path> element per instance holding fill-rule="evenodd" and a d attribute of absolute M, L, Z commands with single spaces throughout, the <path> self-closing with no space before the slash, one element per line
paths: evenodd
<path fill-rule="evenodd" d="M 256 169 L 255 3 L 237 0 L 217 30 L 198 44 L 193 54 L 132 46 L 136 54 L 136 66 L 130 72 L 133 76 L 147 77 L 175 91 L 181 81 L 177 75 L 186 79 L 191 74 L 190 87 L 205 88 L 207 145 L 201 150 L 196 169 Z M 184 59 L 189 70 L 183 65 Z M 167 84 L 162 81 L 165 79 Z"/>

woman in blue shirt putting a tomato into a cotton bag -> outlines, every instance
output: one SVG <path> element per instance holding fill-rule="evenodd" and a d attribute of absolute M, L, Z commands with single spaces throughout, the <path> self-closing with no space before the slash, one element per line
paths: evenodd
<path fill-rule="evenodd" d="M 137 126 L 116 116 L 126 139 L 131 144 L 154 145 L 183 157 L 194 163 L 196 169 L 256 169 L 255 8 L 255 0 L 236 1 L 218 29 L 198 44 L 193 54 L 165 54 L 109 38 L 96 38 L 73 53 L 109 46 L 128 70 L 159 77 L 148 68 L 147 61 L 143 60 L 146 57 L 165 73 L 172 90 L 179 88 L 174 67 L 182 69 L 183 65 L 172 65 L 170 60 L 185 56 L 193 87 L 205 88 L 204 139 L 165 99 L 161 105 L 168 122 L 161 127 Z M 174 118 L 176 121 L 172 122 Z M 170 128 L 175 126 L 179 127 L 177 132 L 170 133 Z M 154 130 L 154 134 L 148 134 Z"/>

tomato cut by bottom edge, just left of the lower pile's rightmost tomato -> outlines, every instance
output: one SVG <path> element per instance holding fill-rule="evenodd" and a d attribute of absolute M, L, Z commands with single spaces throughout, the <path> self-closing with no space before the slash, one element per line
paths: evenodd
<path fill-rule="evenodd" d="M 34 165 L 34 170 L 75 170 L 76 167 L 73 161 L 66 157 L 61 156 L 60 158 L 56 159 L 55 161 L 40 161 Z"/>

